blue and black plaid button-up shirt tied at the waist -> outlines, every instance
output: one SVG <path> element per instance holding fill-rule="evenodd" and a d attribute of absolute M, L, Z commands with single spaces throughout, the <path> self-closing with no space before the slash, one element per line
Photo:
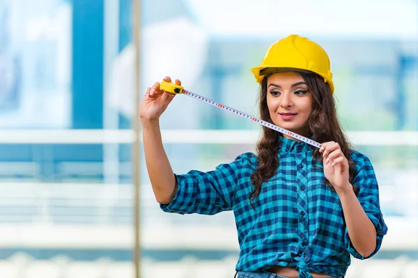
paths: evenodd
<path fill-rule="evenodd" d="M 325 183 L 322 163 L 312 161 L 313 147 L 283 137 L 280 145 L 277 173 L 263 183 L 253 200 L 255 210 L 248 199 L 250 175 L 258 164 L 252 153 L 210 172 L 176 174 L 176 197 L 160 207 L 180 214 L 232 210 L 240 245 L 236 270 L 256 272 L 281 265 L 296 268 L 299 277 L 311 277 L 309 272 L 344 276 L 350 253 L 366 258 L 350 243 L 339 197 Z M 376 227 L 376 254 L 387 233 L 378 183 L 369 158 L 355 151 L 351 155 L 357 168 L 357 198 Z"/>

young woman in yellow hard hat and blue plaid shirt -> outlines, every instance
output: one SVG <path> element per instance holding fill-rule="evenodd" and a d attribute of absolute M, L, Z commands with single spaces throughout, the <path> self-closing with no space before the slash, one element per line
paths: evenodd
<path fill-rule="evenodd" d="M 174 95 L 155 83 L 140 112 L 157 202 L 171 213 L 232 210 L 240 245 L 235 277 L 343 277 L 350 254 L 378 252 L 387 226 L 371 162 L 350 149 L 337 120 L 330 60 L 315 42 L 289 35 L 251 71 L 261 85 L 261 120 L 322 142 L 320 149 L 263 126 L 256 154 L 210 172 L 174 174 L 159 126 Z"/>

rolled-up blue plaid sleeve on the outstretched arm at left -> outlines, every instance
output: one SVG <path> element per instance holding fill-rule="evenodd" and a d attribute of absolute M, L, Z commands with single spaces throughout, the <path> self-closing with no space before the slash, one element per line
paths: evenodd
<path fill-rule="evenodd" d="M 168 213 L 205 215 L 231 210 L 244 160 L 245 154 L 242 154 L 235 161 L 218 165 L 209 172 L 191 170 L 187 174 L 175 174 L 176 196 L 170 204 L 160 204 L 160 208 Z"/>

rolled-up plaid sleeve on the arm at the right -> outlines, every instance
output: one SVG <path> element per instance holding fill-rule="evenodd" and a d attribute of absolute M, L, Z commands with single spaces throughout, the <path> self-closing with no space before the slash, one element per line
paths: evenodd
<path fill-rule="evenodd" d="M 376 179 L 376 174 L 373 170 L 373 166 L 369 161 L 369 158 L 362 154 L 355 154 L 357 163 L 357 176 L 355 177 L 353 183 L 354 186 L 359 188 L 359 193 L 357 194 L 357 199 L 362 205 L 364 212 L 369 217 L 371 222 L 373 222 L 376 227 L 376 250 L 370 254 L 368 257 L 360 255 L 357 250 L 353 247 L 350 237 L 348 236 L 348 229 L 346 228 L 346 246 L 348 251 L 353 254 L 357 259 L 368 259 L 378 250 L 382 245 L 383 236 L 387 234 L 387 226 L 383 220 L 382 212 L 380 211 L 380 201 L 379 201 L 379 188 L 378 181 Z"/>

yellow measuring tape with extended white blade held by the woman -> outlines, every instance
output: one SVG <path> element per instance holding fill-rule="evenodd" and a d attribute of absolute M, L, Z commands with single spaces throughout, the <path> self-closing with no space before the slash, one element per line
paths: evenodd
<path fill-rule="evenodd" d="M 318 143 L 318 142 L 316 142 L 314 140 L 311 140 L 311 139 L 309 139 L 307 137 L 304 137 L 304 136 L 300 136 L 299 134 L 293 133 L 292 131 L 288 131 L 287 129 L 282 129 L 279 126 L 276 126 L 274 124 L 270 124 L 270 122 L 265 122 L 263 120 L 257 119 L 256 117 L 252 117 L 251 115 L 248 115 L 248 114 L 246 114 L 244 112 L 238 111 L 238 110 L 236 110 L 234 108 L 225 106 L 224 104 L 218 104 L 217 102 L 212 101 L 210 99 L 207 99 L 206 97 L 202 97 L 200 95 L 197 95 L 194 92 L 190 92 L 190 91 L 184 90 L 183 89 L 183 86 L 181 86 L 181 85 L 177 85 L 175 83 L 171 83 L 171 82 L 167 82 L 167 81 L 162 81 L 161 82 L 161 85 L 160 85 L 160 88 L 162 90 L 166 91 L 166 92 L 171 92 L 172 94 L 176 94 L 176 95 L 183 94 L 183 95 L 187 95 L 189 97 L 192 97 L 194 99 L 203 101 L 203 102 L 205 102 L 207 104 L 212 104 L 212 106 L 216 106 L 219 109 L 222 109 L 224 111 L 231 112 L 231 113 L 233 113 L 235 115 L 238 115 L 240 117 L 244 117 L 247 120 L 251 120 L 252 122 L 256 122 L 257 124 L 261 124 L 261 125 L 263 125 L 265 127 L 268 127 L 269 129 L 273 129 L 274 131 L 279 131 L 279 132 L 284 133 L 284 134 L 286 134 L 288 136 L 291 136 L 291 137 L 293 137 L 293 138 L 295 138 L 297 140 L 306 142 L 309 145 L 312 145 L 314 147 L 320 148 L 320 143 Z"/>

